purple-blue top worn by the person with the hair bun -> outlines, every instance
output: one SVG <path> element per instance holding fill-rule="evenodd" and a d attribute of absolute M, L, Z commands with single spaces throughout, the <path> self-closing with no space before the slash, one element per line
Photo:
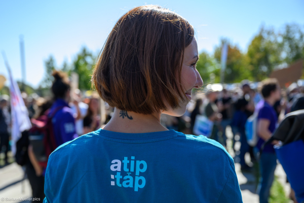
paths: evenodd
<path fill-rule="evenodd" d="M 52 119 L 52 124 L 57 146 L 77 138 L 73 111 L 68 107 L 68 104 L 63 99 L 56 99 L 51 107 L 50 114 L 54 111 L 57 112 Z"/>

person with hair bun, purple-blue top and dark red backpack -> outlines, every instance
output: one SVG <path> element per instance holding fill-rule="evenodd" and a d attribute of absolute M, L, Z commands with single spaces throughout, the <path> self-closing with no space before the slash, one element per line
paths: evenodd
<path fill-rule="evenodd" d="M 31 119 L 33 126 L 28 131 L 29 140 L 33 136 L 41 137 L 33 139 L 35 145 L 28 146 L 28 157 L 37 177 L 45 176 L 48 158 L 57 147 L 78 137 L 73 111 L 68 106 L 70 85 L 67 75 L 54 71 L 53 77 L 53 104 L 47 110 L 44 108 L 38 118 Z"/>

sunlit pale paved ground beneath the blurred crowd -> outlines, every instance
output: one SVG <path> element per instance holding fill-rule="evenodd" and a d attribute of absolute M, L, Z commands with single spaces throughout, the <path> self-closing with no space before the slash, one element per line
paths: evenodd
<path fill-rule="evenodd" d="M 231 133 L 227 130 L 227 137 L 231 138 Z M 227 141 L 227 145 L 230 145 L 231 140 Z M 238 148 L 237 144 L 236 148 Z M 234 151 L 228 150 L 234 157 Z M 246 161 L 250 161 L 249 154 L 246 157 Z M 252 173 L 242 173 L 241 166 L 239 163 L 235 164 L 236 172 L 242 191 L 242 197 L 244 203 L 258 203 L 258 195 L 255 194 L 256 180 Z M 290 185 L 286 183 L 286 174 L 281 166 L 277 165 L 275 174 L 279 177 L 279 181 L 284 186 L 285 194 L 289 194 Z M 5 167 L 0 168 L 0 203 L 2 202 L 23 202 L 27 203 L 30 201 L 22 200 L 5 200 L 1 198 L 26 198 L 31 197 L 31 188 L 27 179 L 24 179 L 24 171 L 21 166 L 16 162 L 13 162 Z M 290 203 L 293 201 L 290 201 Z"/>

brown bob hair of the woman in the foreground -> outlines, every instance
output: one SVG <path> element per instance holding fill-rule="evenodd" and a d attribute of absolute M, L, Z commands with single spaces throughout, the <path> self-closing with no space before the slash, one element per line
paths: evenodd
<path fill-rule="evenodd" d="M 109 106 L 141 114 L 168 111 L 187 100 L 181 84 L 185 48 L 194 28 L 160 6 L 136 7 L 113 27 L 92 76 Z"/>

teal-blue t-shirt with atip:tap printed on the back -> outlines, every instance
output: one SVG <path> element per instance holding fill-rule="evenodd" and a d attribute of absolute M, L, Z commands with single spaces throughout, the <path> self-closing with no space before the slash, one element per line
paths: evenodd
<path fill-rule="evenodd" d="M 44 202 L 242 202 L 233 158 L 173 129 L 99 129 L 49 157 Z"/>

